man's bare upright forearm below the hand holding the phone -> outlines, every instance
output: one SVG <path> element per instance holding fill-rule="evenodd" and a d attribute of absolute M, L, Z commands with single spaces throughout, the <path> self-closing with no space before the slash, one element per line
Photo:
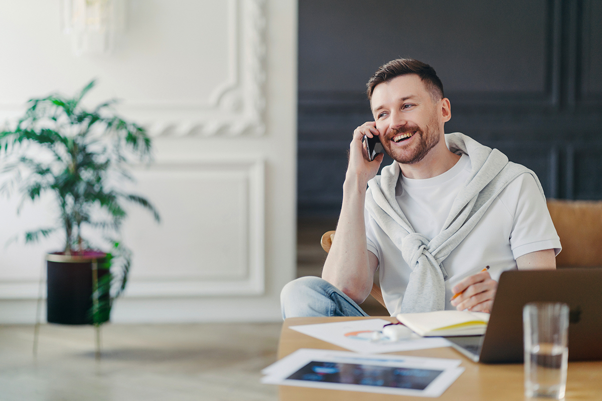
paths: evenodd
<path fill-rule="evenodd" d="M 358 303 L 370 294 L 373 277 L 364 223 L 366 185 L 363 177 L 347 174 L 337 233 L 322 271 L 324 280 Z"/>

